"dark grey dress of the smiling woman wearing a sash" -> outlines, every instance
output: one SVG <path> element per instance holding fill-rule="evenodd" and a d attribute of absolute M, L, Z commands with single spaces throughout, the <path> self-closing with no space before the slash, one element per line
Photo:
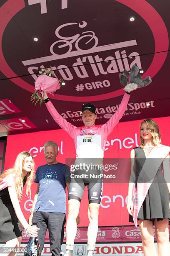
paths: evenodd
<path fill-rule="evenodd" d="M 142 169 L 142 166 L 146 160 L 145 152 L 143 148 L 137 147 L 135 150 L 135 176 L 136 181 L 138 179 L 139 173 Z M 136 185 L 135 181 L 135 185 Z M 143 205 L 140 208 L 138 213 L 138 220 L 150 220 L 155 219 L 163 220 L 168 218 L 170 221 L 170 194 L 168 191 L 167 184 L 163 177 L 162 166 L 158 169 L 158 172 L 153 180 L 148 193 L 145 197 Z M 133 218 L 129 215 L 129 222 L 133 222 Z"/>

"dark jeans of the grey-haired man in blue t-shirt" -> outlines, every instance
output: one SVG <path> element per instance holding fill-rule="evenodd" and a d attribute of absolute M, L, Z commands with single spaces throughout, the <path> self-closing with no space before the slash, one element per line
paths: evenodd
<path fill-rule="evenodd" d="M 38 231 L 38 241 L 41 251 L 44 248 L 45 234 L 48 228 L 52 256 L 60 256 L 64 238 L 65 213 L 34 212 L 33 222 L 37 223 L 37 227 L 40 228 Z"/>

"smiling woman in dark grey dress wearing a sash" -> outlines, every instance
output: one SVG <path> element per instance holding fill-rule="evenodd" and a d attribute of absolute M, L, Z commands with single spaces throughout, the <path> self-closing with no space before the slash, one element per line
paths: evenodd
<path fill-rule="evenodd" d="M 133 148 L 130 153 L 132 162 L 132 173 L 129 182 L 127 210 L 130 214 L 129 221 L 134 220 L 134 197 L 133 187 L 137 188 L 139 178 L 143 170 L 145 161 L 148 161 L 150 154 L 154 156 L 157 150 L 166 147 L 166 156 L 158 170 L 154 174 L 152 182 L 148 180 L 149 189 L 146 191 L 143 204 L 138 210 L 138 224 L 141 231 L 144 256 L 170 256 L 169 242 L 169 220 L 170 220 L 170 166 L 169 166 L 169 147 L 161 144 L 159 127 L 152 119 L 143 120 L 140 124 L 140 147 Z M 159 151 L 159 152 L 160 152 Z M 161 157 L 150 159 L 150 163 L 157 161 Z M 147 172 L 151 172 L 148 169 Z M 149 173 L 150 174 L 150 173 Z M 148 174 L 148 176 L 149 176 Z M 145 173 L 147 181 L 147 173 Z M 140 197 L 140 194 L 139 194 Z M 158 242 L 158 254 L 154 244 L 154 229 Z"/>

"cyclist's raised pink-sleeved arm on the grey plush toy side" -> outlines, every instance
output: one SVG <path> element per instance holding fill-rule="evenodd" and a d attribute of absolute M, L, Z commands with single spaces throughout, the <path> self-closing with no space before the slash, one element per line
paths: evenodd
<path fill-rule="evenodd" d="M 101 129 L 106 135 L 109 135 L 113 128 L 119 123 L 119 120 L 122 118 L 123 114 L 125 113 L 125 110 L 127 108 L 128 102 L 129 102 L 130 94 L 125 92 L 122 101 L 120 103 L 119 109 L 115 112 L 114 115 L 105 123 L 102 125 Z"/>

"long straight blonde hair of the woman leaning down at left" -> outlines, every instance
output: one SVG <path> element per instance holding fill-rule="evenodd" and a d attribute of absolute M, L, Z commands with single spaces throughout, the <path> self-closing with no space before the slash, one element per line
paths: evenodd
<path fill-rule="evenodd" d="M 7 171 L 3 172 L 2 175 L 0 176 L 0 182 L 2 181 L 3 178 L 5 178 L 9 174 L 15 174 L 15 189 L 17 192 L 18 199 L 20 200 L 22 197 L 22 192 L 23 192 L 23 177 L 22 177 L 22 172 L 23 172 L 23 166 L 25 163 L 26 157 L 32 155 L 27 152 L 23 151 L 20 154 L 18 154 L 14 166 L 11 169 L 8 169 Z M 26 195 L 28 197 L 31 197 L 31 184 L 33 182 L 33 179 L 35 177 L 35 163 L 32 158 L 32 169 L 31 172 L 28 172 L 28 174 L 25 176 L 26 177 Z"/>

